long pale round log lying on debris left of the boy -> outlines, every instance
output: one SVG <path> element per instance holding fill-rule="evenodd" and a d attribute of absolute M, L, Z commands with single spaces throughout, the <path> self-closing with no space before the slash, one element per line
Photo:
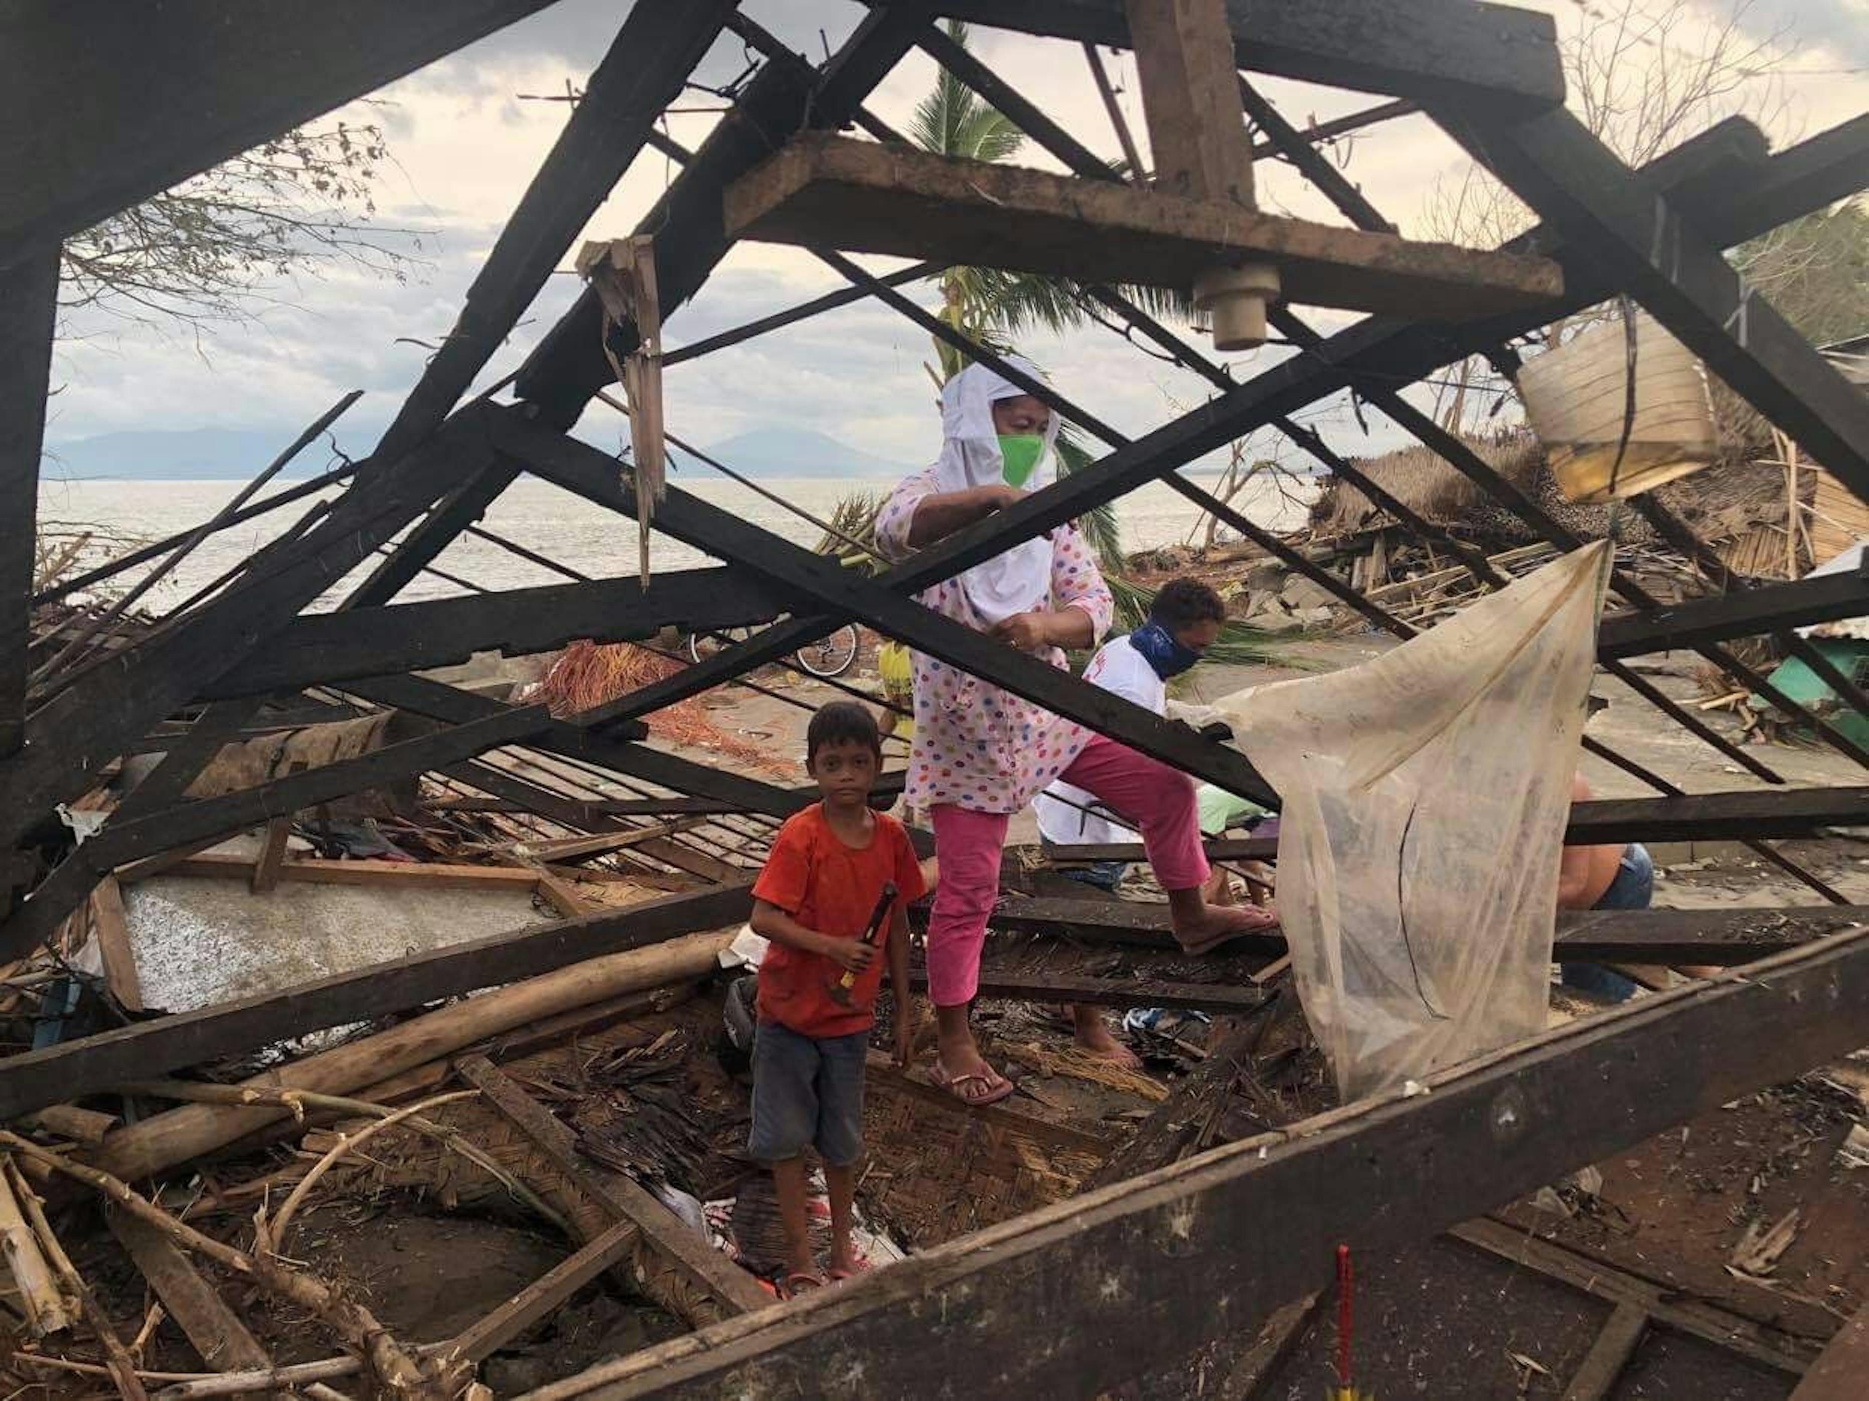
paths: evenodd
<path fill-rule="evenodd" d="M 703 977 L 718 968 L 716 958 L 729 938 L 690 934 L 561 968 L 482 998 L 452 1003 L 348 1046 L 308 1055 L 254 1076 L 247 1083 L 342 1095 L 572 1007 Z M 153 1177 L 290 1115 L 292 1110 L 282 1106 L 189 1104 L 120 1128 L 88 1158 L 118 1177 Z"/>

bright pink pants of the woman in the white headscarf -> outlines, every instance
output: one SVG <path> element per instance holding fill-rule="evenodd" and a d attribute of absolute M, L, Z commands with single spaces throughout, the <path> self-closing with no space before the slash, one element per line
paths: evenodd
<path fill-rule="evenodd" d="M 1194 781 L 1185 773 L 1099 734 L 1058 777 L 1142 829 L 1149 867 L 1164 891 L 1207 884 Z M 936 1007 L 963 1007 L 979 988 L 979 949 L 1000 897 L 1000 852 L 1011 816 L 940 803 L 933 818 L 940 884 L 929 912 L 929 999 Z"/>

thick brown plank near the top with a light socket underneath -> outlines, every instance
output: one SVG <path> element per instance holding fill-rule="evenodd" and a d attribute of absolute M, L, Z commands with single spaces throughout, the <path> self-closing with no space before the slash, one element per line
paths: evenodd
<path fill-rule="evenodd" d="M 1288 301 L 1407 316 L 1432 308 L 1435 319 L 1536 306 L 1564 291 L 1546 258 L 819 133 L 794 136 L 735 181 L 723 209 L 727 232 L 742 239 L 1082 282 L 1187 290 L 1204 267 L 1267 262 Z"/>

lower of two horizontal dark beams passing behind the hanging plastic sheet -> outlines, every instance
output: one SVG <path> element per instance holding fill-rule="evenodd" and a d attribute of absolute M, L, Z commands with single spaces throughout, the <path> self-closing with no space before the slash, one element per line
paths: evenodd
<path fill-rule="evenodd" d="M 1749 964 L 1863 925 L 1869 925 L 1865 906 L 1561 910 L 1553 956 L 1577 962 Z M 1093 943 L 1179 947 L 1166 906 L 1125 900 L 1013 899 L 992 912 L 992 927 Z M 1277 956 L 1286 951 L 1286 941 L 1278 930 L 1267 930 L 1241 936 L 1228 949 Z"/>

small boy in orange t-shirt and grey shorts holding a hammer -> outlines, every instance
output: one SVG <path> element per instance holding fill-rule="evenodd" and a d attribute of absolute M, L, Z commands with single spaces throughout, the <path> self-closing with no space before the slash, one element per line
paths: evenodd
<path fill-rule="evenodd" d="M 806 1231 L 806 1147 L 817 1147 L 830 1188 L 830 1278 L 863 1268 L 850 1250 L 850 1205 L 884 962 L 863 932 L 888 882 L 897 897 L 878 941 L 895 992 L 895 1061 L 908 1065 L 908 904 L 923 885 L 903 824 L 869 807 L 880 766 L 882 738 L 867 710 L 849 700 L 820 708 L 806 730 L 806 770 L 822 801 L 787 818 L 753 882 L 753 932 L 772 947 L 759 966 L 748 1151 L 772 1168 L 785 1224 L 785 1296 L 824 1283 Z M 845 973 L 854 975 L 847 999 L 832 994 Z"/>

